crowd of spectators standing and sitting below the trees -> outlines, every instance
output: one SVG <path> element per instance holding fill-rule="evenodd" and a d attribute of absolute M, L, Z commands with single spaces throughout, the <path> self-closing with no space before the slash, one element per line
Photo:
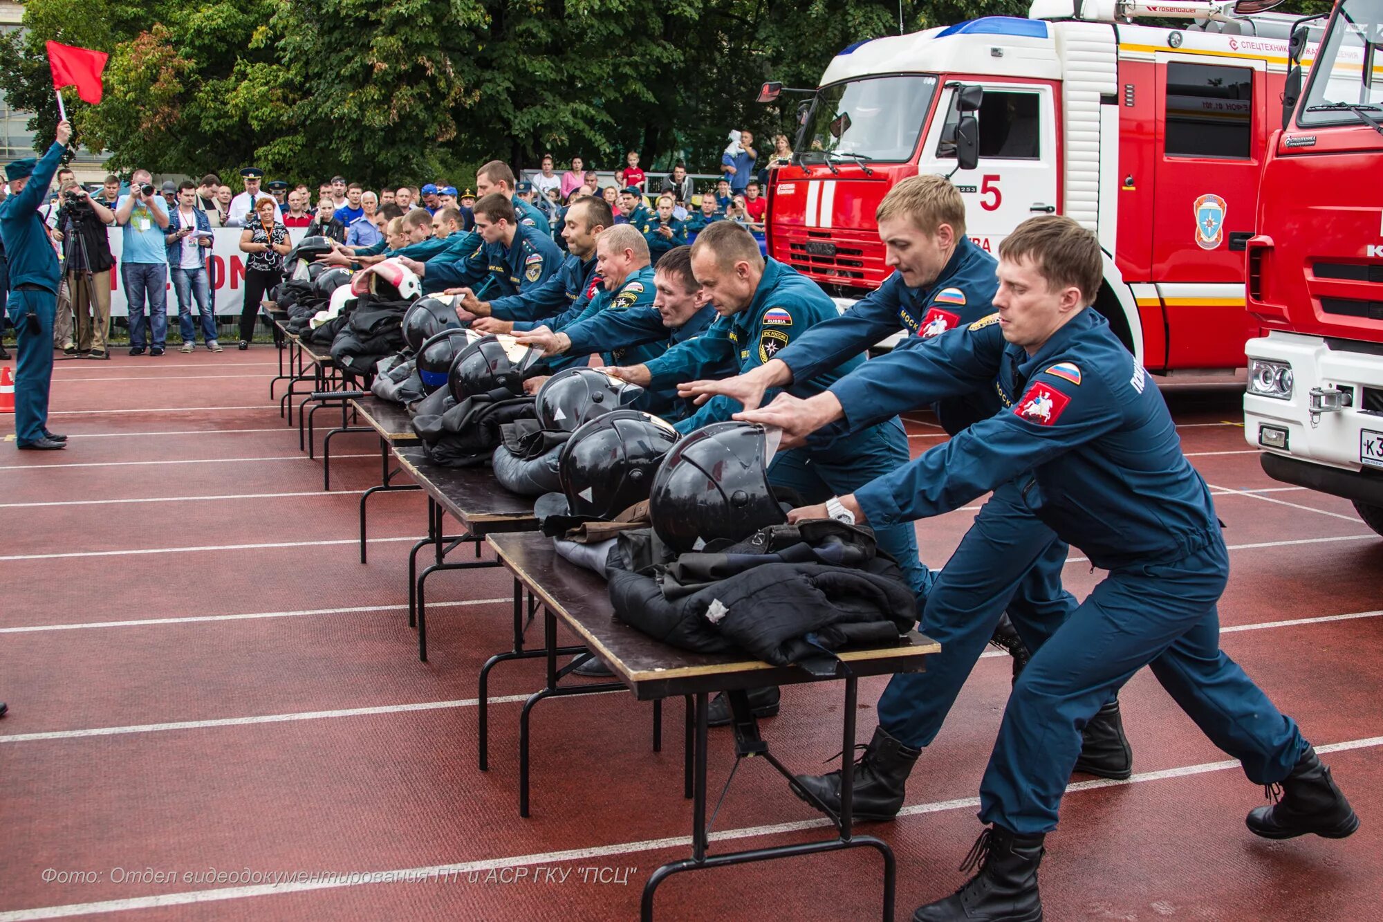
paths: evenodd
<path fill-rule="evenodd" d="M 545 224 L 544 230 L 563 249 L 560 228 L 566 210 L 582 195 L 603 197 L 617 224 L 632 224 L 647 239 L 654 262 L 669 249 L 690 244 L 719 220 L 743 224 L 762 246 L 768 166 L 788 162 L 791 150 L 781 134 L 768 156 L 754 147 L 751 132 L 730 132 L 729 141 L 721 156 L 719 180 L 700 191 L 682 162 L 665 176 L 650 177 L 639 165 L 638 151 L 626 152 L 624 163 L 613 172 L 613 183 L 602 181 L 581 156 L 573 156 L 559 173 L 550 154 L 542 156 L 538 172 L 528 180 L 516 180 L 508 169 L 508 176 L 498 179 L 523 212 L 524 223 Z M 241 349 L 253 338 L 260 298 L 282 278 L 284 256 L 290 249 L 289 228 L 335 241 L 349 256 L 343 262 L 351 264 L 383 259 L 426 238 L 474 228 L 476 192 L 445 180 L 372 190 L 333 176 L 317 187 L 314 205 L 307 184 L 264 183 L 263 170 L 256 168 L 241 170 L 239 194 L 214 173 L 199 181 L 165 181 L 156 188 L 149 170 L 137 169 L 127 184 L 112 174 L 100 191 L 91 192 L 76 183 L 71 170 L 61 170 L 57 179 L 57 197 L 43 209 L 64 264 L 54 346 L 73 357 L 108 357 L 115 266 L 108 227 L 119 227 L 122 234 L 119 271 L 129 305 L 131 356 L 165 353 L 170 282 L 183 352 L 194 352 L 198 332 L 207 350 L 221 352 L 216 284 L 207 260 L 216 228 L 242 228 Z M 494 177 L 477 176 L 476 190 L 481 195 L 495 191 Z M 404 219 L 419 210 L 433 220 L 405 226 Z"/>

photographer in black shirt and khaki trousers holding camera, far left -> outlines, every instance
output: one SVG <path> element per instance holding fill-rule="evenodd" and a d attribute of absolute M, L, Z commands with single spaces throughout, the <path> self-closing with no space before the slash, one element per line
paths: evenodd
<path fill-rule="evenodd" d="M 105 336 L 111 325 L 111 267 L 115 257 L 105 228 L 115 223 L 115 212 L 71 179 L 64 181 L 59 201 L 62 206 L 53 237 L 62 244 L 68 298 L 77 321 L 73 352 L 91 359 L 109 359 Z"/>

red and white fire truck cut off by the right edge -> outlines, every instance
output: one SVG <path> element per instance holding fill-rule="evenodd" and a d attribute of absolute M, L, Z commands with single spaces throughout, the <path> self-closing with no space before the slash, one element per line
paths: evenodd
<path fill-rule="evenodd" d="M 1246 346 L 1243 432 L 1270 476 L 1351 500 L 1383 534 L 1383 0 L 1336 4 L 1299 89 L 1294 68 L 1249 241 L 1267 335 Z"/>

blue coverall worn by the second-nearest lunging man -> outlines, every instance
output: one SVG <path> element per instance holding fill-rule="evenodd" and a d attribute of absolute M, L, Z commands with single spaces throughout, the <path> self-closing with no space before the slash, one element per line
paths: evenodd
<path fill-rule="evenodd" d="M 910 335 L 898 349 L 928 349 L 936 335 L 993 311 L 996 264 L 993 256 L 961 238 L 927 288 L 909 288 L 893 273 L 877 291 L 838 318 L 806 331 L 777 357 L 792 370 L 794 379 L 805 379 L 899 327 Z M 938 393 L 935 388 L 935 382 L 914 381 L 906 400 L 895 401 L 862 389 L 833 392 L 838 397 L 852 395 L 856 403 L 845 407 L 848 418 L 863 424 L 929 401 Z M 1000 407 L 987 382 L 931 404 L 950 435 L 994 415 Z M 928 588 L 922 630 L 942 645 L 942 653 L 928 660 L 927 671 L 899 673 L 889 680 L 878 699 L 880 727 L 909 746 L 929 745 L 1005 609 L 1028 649 L 1040 647 L 1076 608 L 1076 599 L 1061 586 L 1066 555 L 1066 544 L 1023 505 L 1017 485 L 997 487 Z"/>

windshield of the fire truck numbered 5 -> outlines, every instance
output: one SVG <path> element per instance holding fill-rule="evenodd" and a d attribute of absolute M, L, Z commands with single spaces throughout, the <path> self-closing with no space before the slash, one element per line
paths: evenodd
<path fill-rule="evenodd" d="M 797 150 L 808 162 L 824 161 L 827 154 L 870 162 L 909 161 L 935 93 L 936 76 L 931 73 L 866 78 L 822 87 Z"/>

